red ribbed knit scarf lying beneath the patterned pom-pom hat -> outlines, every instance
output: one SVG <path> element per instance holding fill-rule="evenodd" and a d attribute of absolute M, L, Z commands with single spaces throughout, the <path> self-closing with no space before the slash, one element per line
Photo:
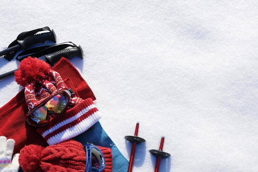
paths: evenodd
<path fill-rule="evenodd" d="M 62 58 L 52 67 L 52 70 L 60 74 L 64 82 L 71 86 L 77 96 L 82 99 L 91 98 L 93 101 L 96 99 L 88 84 L 67 59 Z M 25 145 L 48 145 L 44 138 L 36 132 L 37 127 L 30 126 L 25 122 L 25 114 L 27 113 L 28 107 L 24 89 L 0 108 L 0 136 L 15 140 L 13 154 L 19 153 Z"/>

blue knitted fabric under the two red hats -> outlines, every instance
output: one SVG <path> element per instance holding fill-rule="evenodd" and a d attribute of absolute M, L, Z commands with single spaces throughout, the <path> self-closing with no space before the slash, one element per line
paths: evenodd
<path fill-rule="evenodd" d="M 80 142 L 81 144 L 89 142 L 97 146 L 111 148 L 113 158 L 112 171 L 127 172 L 129 165 L 128 160 L 124 157 L 124 155 L 122 155 L 122 153 L 116 147 L 115 143 L 107 135 L 105 130 L 100 125 L 99 121 L 93 125 L 92 129 L 85 131 L 84 133 L 74 137 L 73 139 Z"/>

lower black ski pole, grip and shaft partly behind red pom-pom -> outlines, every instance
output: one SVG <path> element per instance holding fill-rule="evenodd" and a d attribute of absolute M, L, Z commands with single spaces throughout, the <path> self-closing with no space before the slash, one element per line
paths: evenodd
<path fill-rule="evenodd" d="M 52 54 L 45 55 L 45 59 L 43 61 L 47 62 L 51 66 L 54 66 L 54 64 L 58 62 L 62 57 L 71 59 L 73 56 L 78 56 L 83 59 L 83 50 L 80 45 L 79 47 L 68 47 L 63 50 L 53 52 Z M 15 69 L 13 71 L 0 75 L 0 80 L 13 76 L 14 72 L 17 70 L 18 69 Z"/>

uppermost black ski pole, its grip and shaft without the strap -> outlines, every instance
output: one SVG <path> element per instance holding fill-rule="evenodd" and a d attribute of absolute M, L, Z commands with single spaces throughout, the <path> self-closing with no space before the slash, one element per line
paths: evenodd
<path fill-rule="evenodd" d="M 35 34 L 35 35 L 29 36 L 27 38 L 24 38 L 23 40 L 17 40 L 18 45 L 15 45 L 15 46 L 7 48 L 3 51 L 0 51 L 0 56 L 3 56 L 5 54 L 8 54 L 15 50 L 19 50 L 20 48 L 27 50 L 30 46 L 32 46 L 34 44 L 38 44 L 38 43 L 44 43 L 47 40 L 56 42 L 56 34 L 53 29 L 51 32 Z"/>

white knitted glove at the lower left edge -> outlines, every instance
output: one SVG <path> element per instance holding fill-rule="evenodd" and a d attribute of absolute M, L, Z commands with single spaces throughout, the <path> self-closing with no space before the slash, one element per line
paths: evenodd
<path fill-rule="evenodd" d="M 17 172 L 19 154 L 13 155 L 14 140 L 0 136 L 0 172 Z M 13 161 L 12 160 L 13 155 Z"/>

